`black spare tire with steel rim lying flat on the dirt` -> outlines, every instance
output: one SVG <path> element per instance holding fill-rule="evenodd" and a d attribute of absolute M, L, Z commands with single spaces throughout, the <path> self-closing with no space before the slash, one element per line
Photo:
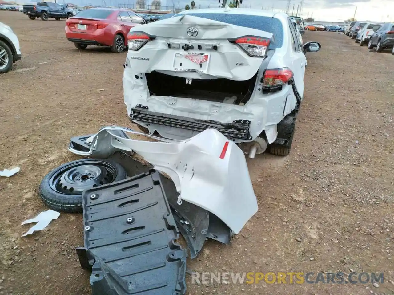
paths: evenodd
<path fill-rule="evenodd" d="M 81 166 L 83 173 L 77 171 Z M 104 171 L 105 175 L 99 174 L 98 171 Z M 41 181 L 39 194 L 43 202 L 52 210 L 80 213 L 82 212 L 83 190 L 126 178 L 126 170 L 117 162 L 103 159 L 75 160 L 50 171 Z M 62 181 L 75 188 L 67 187 L 61 183 Z"/>

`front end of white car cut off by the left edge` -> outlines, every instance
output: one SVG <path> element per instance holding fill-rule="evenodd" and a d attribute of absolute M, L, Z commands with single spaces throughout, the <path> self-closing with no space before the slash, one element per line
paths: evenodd
<path fill-rule="evenodd" d="M 11 70 L 12 64 L 22 58 L 17 35 L 0 22 L 0 74 Z"/>

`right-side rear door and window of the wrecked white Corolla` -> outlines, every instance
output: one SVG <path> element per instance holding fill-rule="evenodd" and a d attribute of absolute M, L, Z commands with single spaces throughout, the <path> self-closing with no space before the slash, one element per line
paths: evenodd
<path fill-rule="evenodd" d="M 297 90 L 301 97 L 303 97 L 304 93 L 304 76 L 305 76 L 305 64 L 307 58 L 305 54 L 302 53 L 301 46 L 297 39 L 296 30 L 294 30 L 294 26 L 290 18 L 288 18 L 289 30 L 290 30 L 290 70 L 294 73 L 294 82 L 296 83 Z"/>

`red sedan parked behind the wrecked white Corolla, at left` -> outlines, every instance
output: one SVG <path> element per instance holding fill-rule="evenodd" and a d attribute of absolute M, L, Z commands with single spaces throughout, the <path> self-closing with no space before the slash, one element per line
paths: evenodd
<path fill-rule="evenodd" d="M 88 45 L 110 46 L 112 52 L 121 53 L 127 46 L 130 28 L 144 24 L 133 11 L 115 8 L 90 8 L 66 21 L 67 40 L 78 49 Z"/>

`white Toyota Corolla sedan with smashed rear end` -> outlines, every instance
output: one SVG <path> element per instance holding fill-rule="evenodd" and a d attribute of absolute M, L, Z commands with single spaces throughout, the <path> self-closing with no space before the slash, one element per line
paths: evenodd
<path fill-rule="evenodd" d="M 132 28 L 127 41 L 124 98 L 142 131 L 184 140 L 213 128 L 251 158 L 267 147 L 288 155 L 304 92 L 304 53 L 321 47 L 301 46 L 288 15 L 228 6 L 187 10 Z"/>

